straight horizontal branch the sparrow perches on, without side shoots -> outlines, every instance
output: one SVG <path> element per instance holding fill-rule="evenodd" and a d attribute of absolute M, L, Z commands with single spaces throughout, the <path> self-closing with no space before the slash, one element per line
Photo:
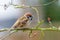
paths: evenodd
<path fill-rule="evenodd" d="M 38 31 L 60 31 L 60 28 L 21 28 L 21 29 L 11 29 L 11 31 L 14 31 L 14 30 L 20 30 L 20 31 L 29 31 L 29 30 L 38 30 Z M 4 31 L 9 31 L 9 28 L 7 29 L 0 29 L 0 32 L 4 32 Z"/>

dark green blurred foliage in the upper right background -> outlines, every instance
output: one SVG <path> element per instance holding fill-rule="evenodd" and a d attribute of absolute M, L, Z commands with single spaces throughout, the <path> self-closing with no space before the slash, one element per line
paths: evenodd
<path fill-rule="evenodd" d="M 45 2 L 51 2 L 53 0 L 44 0 Z M 44 6 L 44 10 L 46 13 L 46 18 L 51 17 L 52 21 L 60 21 L 60 5 L 59 5 L 59 0 L 56 2 Z"/>

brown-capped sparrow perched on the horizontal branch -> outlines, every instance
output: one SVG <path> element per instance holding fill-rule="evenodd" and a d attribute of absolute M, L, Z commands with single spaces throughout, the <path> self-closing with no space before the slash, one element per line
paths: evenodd
<path fill-rule="evenodd" d="M 32 14 L 27 12 L 22 17 L 18 18 L 18 20 L 13 24 L 12 28 L 24 28 L 27 26 L 28 22 L 33 18 Z"/>

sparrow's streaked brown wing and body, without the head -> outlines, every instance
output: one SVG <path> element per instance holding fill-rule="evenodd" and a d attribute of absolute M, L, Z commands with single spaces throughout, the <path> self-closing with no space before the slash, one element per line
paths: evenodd
<path fill-rule="evenodd" d="M 28 21 L 27 17 L 22 16 L 21 18 L 18 18 L 18 20 L 13 24 L 12 28 L 23 27 L 23 26 L 25 26 L 27 21 Z"/>

